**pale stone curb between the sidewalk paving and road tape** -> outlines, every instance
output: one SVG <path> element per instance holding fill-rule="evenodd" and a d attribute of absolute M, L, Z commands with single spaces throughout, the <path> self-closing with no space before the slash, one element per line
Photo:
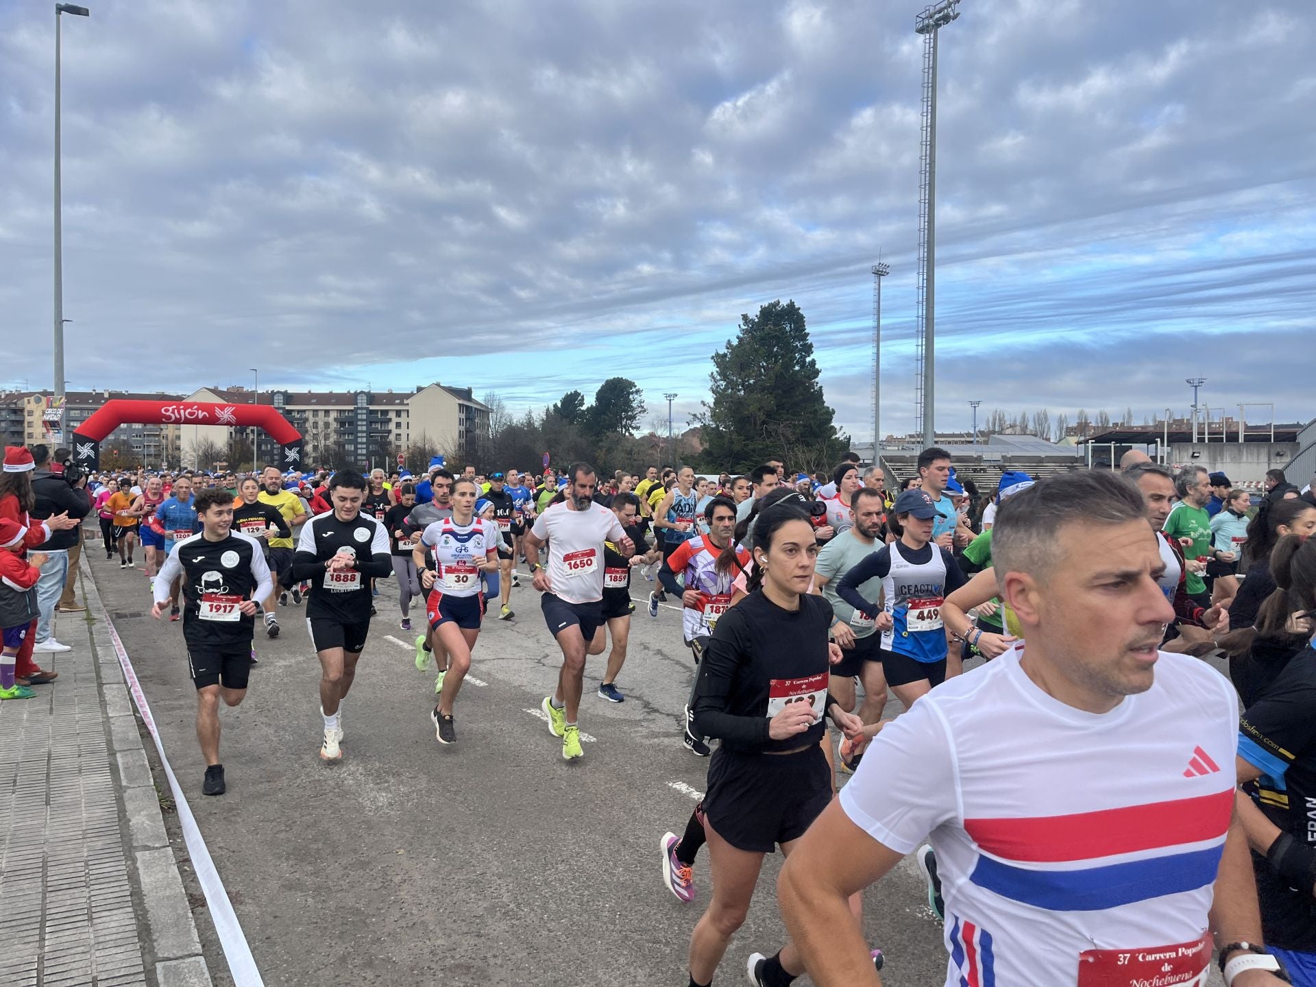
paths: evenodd
<path fill-rule="evenodd" d="M 101 603 L 86 551 L 80 569 L 87 613 L 91 617 L 88 633 L 100 674 L 105 719 L 109 721 L 124 817 L 128 820 L 128 849 L 146 908 L 151 955 L 157 961 L 155 979 L 161 987 L 211 987 L 211 973 L 201 955 L 201 941 L 196 934 L 192 909 L 183 890 L 183 876 L 164 829 L 155 779 L 138 732 L 139 721 L 133 712 L 124 670 L 109 637 L 109 613 Z"/>

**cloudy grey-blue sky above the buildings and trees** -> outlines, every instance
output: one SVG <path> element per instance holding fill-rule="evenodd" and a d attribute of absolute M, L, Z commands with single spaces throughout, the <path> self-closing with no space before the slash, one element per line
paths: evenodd
<path fill-rule="evenodd" d="M 804 311 L 915 417 L 920 3 L 96 0 L 63 17 L 70 390 L 708 400 Z M 1312 408 L 1316 7 L 963 0 L 938 50 L 936 424 Z M 0 387 L 51 378 L 51 4 L 0 0 Z M 1249 409 L 1265 420 L 1269 408 Z"/>

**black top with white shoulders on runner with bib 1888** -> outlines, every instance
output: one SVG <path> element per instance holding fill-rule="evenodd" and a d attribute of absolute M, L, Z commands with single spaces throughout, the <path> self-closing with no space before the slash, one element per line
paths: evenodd
<path fill-rule="evenodd" d="M 338 554 L 338 549 L 351 549 L 355 569 L 330 574 L 325 562 Z M 307 617 L 326 617 L 342 624 L 362 624 L 370 620 L 370 579 L 382 579 L 393 571 L 388 550 L 388 534 L 374 517 L 357 515 L 350 521 L 340 521 L 330 511 L 307 521 L 297 538 L 297 553 L 292 557 L 292 578 L 311 583 Z"/>

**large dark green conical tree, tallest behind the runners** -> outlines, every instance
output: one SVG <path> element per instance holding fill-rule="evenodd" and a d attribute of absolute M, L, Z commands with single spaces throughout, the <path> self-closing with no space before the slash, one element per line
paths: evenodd
<path fill-rule="evenodd" d="M 822 399 L 813 343 L 794 301 L 741 316 L 740 334 L 713 354 L 704 429 L 705 470 L 742 472 L 771 458 L 790 468 L 830 468 L 848 446 Z"/>

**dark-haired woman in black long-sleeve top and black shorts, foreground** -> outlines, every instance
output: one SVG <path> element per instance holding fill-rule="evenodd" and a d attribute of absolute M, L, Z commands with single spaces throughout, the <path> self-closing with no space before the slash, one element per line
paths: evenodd
<path fill-rule="evenodd" d="M 828 644 L 832 605 L 809 595 L 817 542 L 804 512 L 765 509 L 754 536 L 750 595 L 713 629 L 700 662 L 695 730 L 721 742 L 704 796 L 713 898 L 690 941 L 690 982 L 713 979 L 726 944 L 749 911 L 763 865 L 783 854 L 832 800 L 820 741 L 822 716 L 848 734 L 862 729 L 826 692 L 841 650 Z M 775 986 L 804 971 L 795 948 L 750 957 L 758 983 Z"/>

